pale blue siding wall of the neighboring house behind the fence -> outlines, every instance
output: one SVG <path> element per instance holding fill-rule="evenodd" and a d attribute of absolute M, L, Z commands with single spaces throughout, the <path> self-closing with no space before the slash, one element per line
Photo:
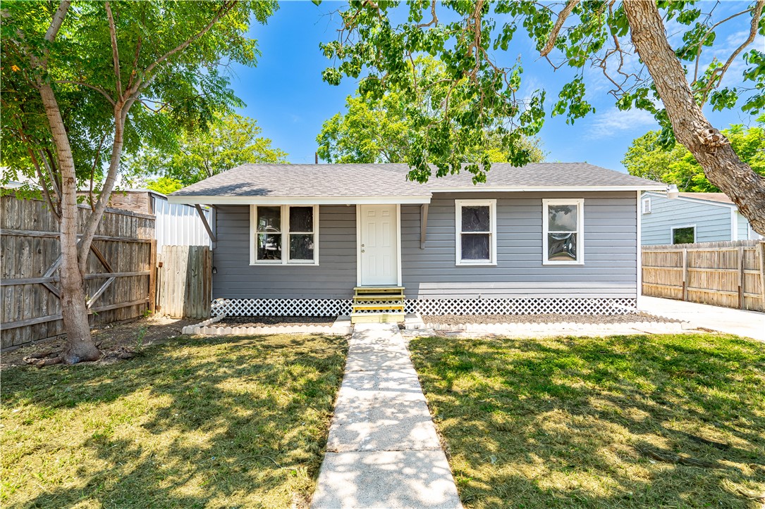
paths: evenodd
<path fill-rule="evenodd" d="M 651 213 L 640 214 L 643 245 L 672 244 L 671 229 L 688 225 L 696 226 L 696 242 L 731 240 L 729 207 L 668 199 L 666 196 L 647 196 L 651 198 Z"/>

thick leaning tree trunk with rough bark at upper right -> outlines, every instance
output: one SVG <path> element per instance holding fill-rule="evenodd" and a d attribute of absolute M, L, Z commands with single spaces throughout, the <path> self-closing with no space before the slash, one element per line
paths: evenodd
<path fill-rule="evenodd" d="M 696 104 L 685 71 L 667 41 L 656 2 L 625 0 L 624 12 L 632 42 L 651 73 L 675 138 L 698 160 L 709 181 L 730 196 L 752 228 L 765 235 L 765 179 L 741 161 L 728 138 L 712 127 Z M 757 12 L 754 16 L 760 17 Z"/>

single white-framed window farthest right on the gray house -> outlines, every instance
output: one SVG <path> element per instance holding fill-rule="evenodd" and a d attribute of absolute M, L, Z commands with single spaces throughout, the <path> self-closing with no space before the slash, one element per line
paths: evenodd
<path fill-rule="evenodd" d="M 584 199 L 542 199 L 543 264 L 584 263 Z"/>

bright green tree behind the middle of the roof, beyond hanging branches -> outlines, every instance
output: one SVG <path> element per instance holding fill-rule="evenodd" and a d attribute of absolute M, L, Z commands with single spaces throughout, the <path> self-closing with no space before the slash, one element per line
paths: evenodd
<path fill-rule="evenodd" d="M 441 87 L 441 93 L 447 92 L 443 64 L 420 57 L 415 66 L 418 79 L 434 83 L 431 89 Z M 330 163 L 404 163 L 416 146 L 412 117 L 418 118 L 418 112 L 407 104 L 402 91 L 388 91 L 379 99 L 357 92 L 347 97 L 345 113 L 337 113 L 322 125 L 316 138 L 319 157 Z M 464 162 L 480 157 L 482 149 L 492 163 L 513 160 L 513 154 L 503 148 L 499 133 L 489 133 L 483 139 L 485 147 L 471 148 Z M 541 144 L 537 137 L 523 136 L 517 147 L 528 153 L 529 162 L 538 163 L 545 158 Z"/>

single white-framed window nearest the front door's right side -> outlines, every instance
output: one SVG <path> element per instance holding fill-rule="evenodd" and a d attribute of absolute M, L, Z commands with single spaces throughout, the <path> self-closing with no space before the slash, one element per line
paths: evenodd
<path fill-rule="evenodd" d="M 496 199 L 456 199 L 457 265 L 496 264 Z"/>

